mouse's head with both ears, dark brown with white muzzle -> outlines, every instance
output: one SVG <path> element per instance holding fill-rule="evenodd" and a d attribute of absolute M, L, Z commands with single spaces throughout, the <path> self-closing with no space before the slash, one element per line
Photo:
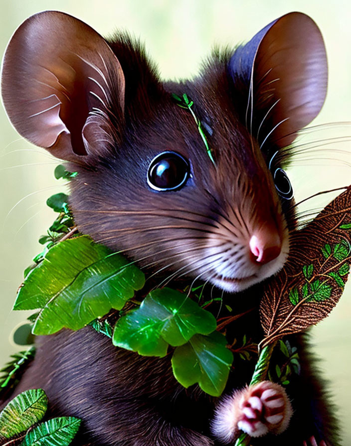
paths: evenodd
<path fill-rule="evenodd" d="M 193 81 L 163 83 L 128 36 L 107 42 L 46 11 L 17 29 L 2 69 L 17 131 L 78 171 L 70 206 L 81 232 L 154 273 L 230 292 L 288 257 L 282 149 L 326 86 L 320 31 L 296 12 L 215 53 Z"/>

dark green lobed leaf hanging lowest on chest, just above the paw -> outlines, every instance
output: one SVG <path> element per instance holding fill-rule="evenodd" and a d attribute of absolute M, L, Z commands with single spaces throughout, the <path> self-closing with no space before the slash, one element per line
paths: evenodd
<path fill-rule="evenodd" d="M 173 373 L 181 385 L 198 383 L 212 396 L 223 392 L 232 362 L 233 354 L 218 332 L 195 334 L 186 344 L 176 347 L 172 357 Z"/>

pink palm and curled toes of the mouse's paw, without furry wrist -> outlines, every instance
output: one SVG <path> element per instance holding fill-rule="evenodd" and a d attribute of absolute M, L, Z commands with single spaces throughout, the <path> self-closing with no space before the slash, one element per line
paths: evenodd
<path fill-rule="evenodd" d="M 251 437 L 268 432 L 280 434 L 288 427 L 292 409 L 283 387 L 263 381 L 249 387 L 241 396 L 238 428 Z"/>

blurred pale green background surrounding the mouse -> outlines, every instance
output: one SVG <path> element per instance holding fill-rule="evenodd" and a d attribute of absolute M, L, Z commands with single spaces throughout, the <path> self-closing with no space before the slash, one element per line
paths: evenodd
<path fill-rule="evenodd" d="M 125 29 L 145 41 L 165 78 L 191 77 L 213 44 L 247 41 L 280 15 L 298 10 L 312 16 L 325 38 L 329 59 L 326 104 L 314 123 L 340 122 L 302 138 L 318 143 L 323 151 L 302 153 L 289 170 L 298 200 L 319 190 L 351 182 L 351 3 L 336 0 L 12 0 L 1 1 L 0 53 L 15 28 L 29 15 L 57 9 L 90 24 L 104 36 Z M 346 123 L 342 123 L 342 122 Z M 349 121 L 349 123 L 347 123 Z M 330 138 L 343 137 L 341 140 Z M 338 142 L 337 142 L 338 141 Z M 37 243 L 53 220 L 45 200 L 64 190 L 53 177 L 57 164 L 43 150 L 20 138 L 0 108 L 0 365 L 20 349 L 10 340 L 14 328 L 26 318 L 11 312 L 22 272 L 40 250 Z M 325 206 L 323 196 L 305 203 L 303 210 Z M 313 329 L 319 366 L 331 381 L 331 393 L 340 407 L 343 445 L 351 445 L 351 283 L 331 316 Z"/>

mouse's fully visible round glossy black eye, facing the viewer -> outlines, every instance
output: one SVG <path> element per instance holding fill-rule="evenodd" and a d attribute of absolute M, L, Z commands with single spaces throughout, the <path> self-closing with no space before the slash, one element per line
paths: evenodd
<path fill-rule="evenodd" d="M 150 163 L 148 184 L 157 191 L 173 191 L 184 186 L 189 173 L 189 163 L 179 153 L 163 152 Z"/>

